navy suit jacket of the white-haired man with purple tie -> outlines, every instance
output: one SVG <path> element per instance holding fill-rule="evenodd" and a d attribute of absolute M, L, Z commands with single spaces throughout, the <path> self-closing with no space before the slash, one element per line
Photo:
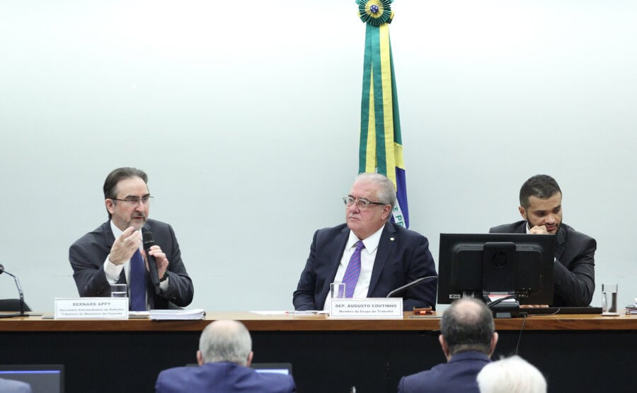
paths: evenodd
<path fill-rule="evenodd" d="M 294 291 L 295 309 L 323 309 L 349 235 L 347 224 L 314 233 L 309 258 Z M 429 275 L 437 274 L 427 238 L 400 225 L 385 224 L 367 297 L 386 297 L 391 290 Z M 436 287 L 434 278 L 406 290 L 402 294 L 403 309 L 435 308 Z"/>

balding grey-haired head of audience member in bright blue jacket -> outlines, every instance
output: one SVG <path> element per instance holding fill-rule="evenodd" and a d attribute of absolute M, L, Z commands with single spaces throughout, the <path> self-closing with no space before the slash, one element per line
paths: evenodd
<path fill-rule="evenodd" d="M 214 321 L 202 331 L 197 362 L 228 362 L 249 366 L 252 362 L 252 338 L 241 322 Z"/>

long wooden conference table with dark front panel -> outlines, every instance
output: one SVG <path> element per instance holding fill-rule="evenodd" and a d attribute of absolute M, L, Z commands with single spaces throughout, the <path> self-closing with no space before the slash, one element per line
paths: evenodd
<path fill-rule="evenodd" d="M 254 362 L 292 363 L 297 391 L 396 392 L 403 375 L 444 363 L 440 315 L 335 319 L 323 314 L 208 312 L 196 321 L 0 319 L 0 364 L 63 364 L 66 392 L 154 392 L 159 372 L 196 363 L 202 329 L 243 322 Z M 549 392 L 631 392 L 637 315 L 534 315 L 496 319 L 493 359 L 517 353 L 536 365 Z"/>

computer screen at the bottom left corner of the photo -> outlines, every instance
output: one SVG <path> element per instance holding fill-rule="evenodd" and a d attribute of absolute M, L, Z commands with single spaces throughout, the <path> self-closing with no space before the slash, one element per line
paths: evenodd
<path fill-rule="evenodd" d="M 0 378 L 27 382 L 33 393 L 64 393 L 64 365 L 0 365 Z"/>

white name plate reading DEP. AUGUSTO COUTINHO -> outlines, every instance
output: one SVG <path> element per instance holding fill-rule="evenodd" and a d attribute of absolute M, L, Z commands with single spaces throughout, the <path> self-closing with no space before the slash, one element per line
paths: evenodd
<path fill-rule="evenodd" d="M 331 318 L 395 319 L 403 317 L 401 297 L 367 297 L 365 299 L 332 299 Z"/>

